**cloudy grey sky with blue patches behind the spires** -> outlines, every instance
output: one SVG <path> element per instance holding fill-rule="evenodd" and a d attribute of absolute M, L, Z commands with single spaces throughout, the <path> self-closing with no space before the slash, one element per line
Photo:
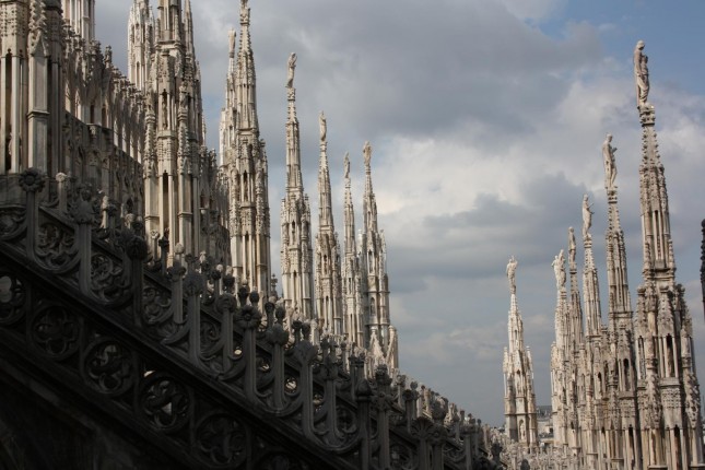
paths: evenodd
<path fill-rule="evenodd" d="M 97 2 L 97 36 L 127 71 L 131 0 Z M 153 3 L 156 3 L 153 0 Z M 235 0 L 191 0 L 209 146 L 227 68 Z M 592 234 L 606 294 L 607 204 L 600 146 L 614 134 L 631 287 L 641 282 L 638 164 L 632 52 L 646 43 L 667 171 L 678 280 L 685 284 L 698 364 L 705 324 L 698 282 L 705 218 L 705 2 L 682 0 L 252 0 L 259 118 L 270 162 L 272 233 L 284 185 L 286 60 L 296 81 L 304 184 L 316 198 L 318 113 L 342 232 L 342 157 L 362 195 L 362 148 L 374 148 L 379 224 L 388 245 L 391 318 L 402 369 L 483 421 L 503 421 L 507 259 L 534 361 L 537 401 L 550 403 L 554 340 L 551 261 L 595 202 Z M 361 209 L 357 208 L 357 211 Z M 314 208 L 317 213 L 317 208 Z M 361 224 L 361 221 L 357 221 Z M 579 231 L 578 231 L 579 232 Z M 279 271 L 279 236 L 272 243 Z M 581 259 L 581 249 L 578 249 Z M 580 268 L 581 269 L 581 268 Z M 636 303 L 633 301 L 633 305 Z M 603 309 L 603 318 L 607 312 Z M 705 374 L 705 372 L 702 372 Z"/>

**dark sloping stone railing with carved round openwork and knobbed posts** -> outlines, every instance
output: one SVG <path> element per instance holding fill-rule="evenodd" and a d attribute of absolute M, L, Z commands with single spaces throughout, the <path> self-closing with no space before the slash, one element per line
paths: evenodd
<path fill-rule="evenodd" d="M 192 468 L 270 468 L 275 453 L 308 468 L 500 468 L 448 400 L 385 366 L 368 377 L 344 339 L 316 343 L 275 302 L 260 310 L 205 256 L 176 246 L 167 266 L 168 240 L 150 247 L 90 185 L 46 181 L 0 180 L 0 348 L 28 366 Z"/>

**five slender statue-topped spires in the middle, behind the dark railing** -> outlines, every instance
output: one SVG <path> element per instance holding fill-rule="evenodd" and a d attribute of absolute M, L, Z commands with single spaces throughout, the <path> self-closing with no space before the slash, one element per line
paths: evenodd
<path fill-rule="evenodd" d="M 240 1 L 239 48 L 237 33 L 230 33 L 225 106 L 221 113 L 221 178 L 227 188 L 230 255 L 233 274 L 260 291 L 278 295 L 271 275 L 268 161 L 259 136 L 250 11 Z M 319 116 L 318 232 L 312 235 L 310 200 L 304 189 L 302 143 L 296 113 L 296 54 L 287 61 L 285 82 L 284 198 L 281 203 L 281 286 L 290 320 L 312 322 L 314 336 L 332 334 L 365 348 L 368 371 L 378 364 L 397 368 L 397 334 L 389 319 L 389 281 L 386 243 L 378 230 L 377 204 L 372 187 L 372 146 L 363 151 L 365 192 L 364 231 L 355 234 L 350 190 L 350 161 L 344 163 L 345 238 L 343 256 L 333 222 L 328 160 L 328 124 Z"/>

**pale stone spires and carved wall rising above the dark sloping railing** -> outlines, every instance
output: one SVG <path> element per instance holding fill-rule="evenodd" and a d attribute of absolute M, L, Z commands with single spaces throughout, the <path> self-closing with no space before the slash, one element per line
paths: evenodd
<path fill-rule="evenodd" d="M 26 7 L 28 34 L 17 31 L 10 37 L 11 32 L 3 31 L 1 67 L 8 106 L 0 111 L 0 140 L 4 142 L 0 175 L 16 174 L 28 165 L 49 177 L 64 174 L 85 181 L 102 191 L 106 214 L 121 208 L 121 213 L 132 214 L 144 226 L 153 251 L 169 247 L 164 250 L 165 269 L 175 260 L 184 263 L 185 257 L 189 262 L 208 260 L 219 267 L 219 275 L 232 275 L 238 284 L 263 293 L 261 303 L 277 297 L 290 320 L 313 326 L 314 339 L 326 333 L 340 344 L 374 350 L 368 354 L 369 373 L 383 363 L 397 368 L 386 246 L 372 190 L 371 146 L 365 150 L 364 231 L 359 239 L 350 163 L 345 164 L 344 272 L 350 282 L 344 289 L 322 114 L 318 232 L 315 237 L 312 234 L 312 208 L 302 172 L 306 156 L 301 151 L 296 115 L 295 54 L 287 67 L 286 150 L 280 156 L 286 164 L 286 181 L 279 298 L 271 267 L 269 163 L 259 129 L 247 0 L 238 4 L 238 31 L 231 31 L 226 39 L 220 155 L 205 146 L 195 2 L 132 0 L 127 26 L 128 77 L 113 63 L 111 49 L 102 51 L 93 40 L 94 0 L 64 1 L 63 10 L 58 1 L 17 4 Z M 22 56 L 27 50 L 32 51 L 31 67 Z M 50 59 L 52 54 L 66 58 L 66 63 Z M 60 97 L 48 95 L 51 77 L 62 78 L 55 83 L 57 90 L 62 89 L 57 92 Z M 38 92 L 25 99 L 22 87 L 30 82 Z"/>

